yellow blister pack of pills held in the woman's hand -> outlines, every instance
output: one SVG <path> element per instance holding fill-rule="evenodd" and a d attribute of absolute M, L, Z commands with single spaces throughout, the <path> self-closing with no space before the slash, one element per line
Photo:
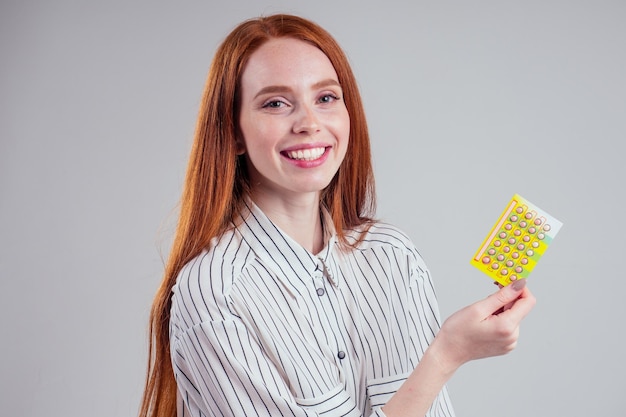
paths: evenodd
<path fill-rule="evenodd" d="M 515 194 L 471 264 L 504 286 L 527 278 L 562 225 Z"/>

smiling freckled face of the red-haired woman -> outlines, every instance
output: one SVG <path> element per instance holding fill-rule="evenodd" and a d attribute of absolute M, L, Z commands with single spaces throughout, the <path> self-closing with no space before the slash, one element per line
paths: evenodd
<path fill-rule="evenodd" d="M 250 56 L 239 123 L 253 195 L 319 197 L 348 147 L 350 118 L 335 69 L 296 39 L 272 39 Z"/>

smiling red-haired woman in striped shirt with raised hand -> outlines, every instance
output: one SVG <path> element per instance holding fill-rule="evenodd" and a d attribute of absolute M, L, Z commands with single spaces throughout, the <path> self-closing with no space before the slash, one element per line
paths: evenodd
<path fill-rule="evenodd" d="M 440 325 L 424 261 L 372 219 L 363 107 L 333 38 L 239 25 L 208 75 L 142 417 L 452 416 L 446 381 L 510 351 L 525 281 Z"/>

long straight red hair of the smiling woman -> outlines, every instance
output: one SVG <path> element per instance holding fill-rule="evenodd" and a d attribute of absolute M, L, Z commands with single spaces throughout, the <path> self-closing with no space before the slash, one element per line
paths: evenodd
<path fill-rule="evenodd" d="M 140 417 L 176 415 L 176 381 L 169 343 L 171 290 L 182 267 L 225 231 L 249 190 L 243 156 L 237 155 L 239 82 L 250 55 L 271 38 L 309 42 L 328 56 L 350 115 L 346 157 L 321 195 L 338 237 L 368 222 L 374 213 L 374 180 L 369 134 L 357 83 L 345 54 L 317 24 L 290 15 L 272 15 L 237 26 L 218 48 L 200 106 L 180 203 L 180 215 L 161 286 L 150 314 L 146 386 Z"/>

